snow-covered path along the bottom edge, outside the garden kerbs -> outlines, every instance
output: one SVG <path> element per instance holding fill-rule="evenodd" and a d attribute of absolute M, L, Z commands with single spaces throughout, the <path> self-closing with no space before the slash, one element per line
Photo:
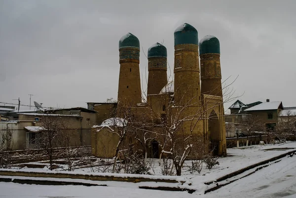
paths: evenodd
<path fill-rule="evenodd" d="M 296 156 L 235 181 L 206 195 L 101 186 L 42 186 L 0 182 L 0 198 L 295 198 Z"/>

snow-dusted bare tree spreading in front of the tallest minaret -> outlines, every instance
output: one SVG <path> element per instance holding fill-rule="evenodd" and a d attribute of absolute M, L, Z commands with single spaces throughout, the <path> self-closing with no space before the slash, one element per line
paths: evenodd
<path fill-rule="evenodd" d="M 178 89 L 175 91 L 178 91 Z M 224 102 L 233 100 L 232 91 L 226 94 L 228 97 Z M 198 123 L 202 122 L 202 119 L 209 119 L 206 114 L 211 109 L 223 104 L 223 101 L 220 100 L 219 102 L 212 102 L 210 105 L 207 101 L 211 101 L 216 97 L 213 95 L 206 95 L 205 97 L 208 98 L 204 98 L 203 103 L 196 97 L 193 96 L 191 99 L 187 99 L 183 95 L 178 102 L 174 100 L 174 97 L 167 97 L 168 101 L 165 102 L 167 105 L 164 105 L 162 110 L 165 113 L 159 113 L 149 107 L 152 117 L 154 117 L 153 131 L 151 130 L 150 133 L 157 134 L 156 137 L 162 149 L 160 158 L 162 155 L 168 155 L 173 161 L 177 175 L 181 175 L 182 167 L 190 155 L 193 145 L 196 144 L 197 140 L 203 140 L 203 138 L 197 137 L 195 134 L 193 136 L 193 132 L 198 131 Z"/>

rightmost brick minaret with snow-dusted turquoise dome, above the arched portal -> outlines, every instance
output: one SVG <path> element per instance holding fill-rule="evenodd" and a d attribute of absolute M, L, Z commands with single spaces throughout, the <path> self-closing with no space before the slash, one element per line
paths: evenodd
<path fill-rule="evenodd" d="M 207 35 L 199 42 L 201 93 L 222 96 L 220 42 Z"/>

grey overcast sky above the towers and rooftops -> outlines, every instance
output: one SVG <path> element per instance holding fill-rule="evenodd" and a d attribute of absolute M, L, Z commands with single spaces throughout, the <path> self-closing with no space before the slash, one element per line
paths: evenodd
<path fill-rule="evenodd" d="M 243 103 L 296 106 L 295 8 L 295 0 L 0 0 L 0 102 L 29 104 L 34 94 L 32 103 L 68 108 L 117 99 L 127 32 L 140 40 L 146 88 L 148 48 L 163 42 L 173 68 L 174 30 L 188 23 L 199 40 L 220 40 L 222 79 L 239 75 L 232 87 Z"/>

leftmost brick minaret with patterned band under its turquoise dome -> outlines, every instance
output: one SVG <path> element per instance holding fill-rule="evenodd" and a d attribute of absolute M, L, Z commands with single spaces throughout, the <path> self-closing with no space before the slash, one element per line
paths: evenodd
<path fill-rule="evenodd" d="M 122 36 L 119 40 L 119 106 L 136 106 L 142 102 L 139 57 L 139 39 L 132 33 Z"/>

